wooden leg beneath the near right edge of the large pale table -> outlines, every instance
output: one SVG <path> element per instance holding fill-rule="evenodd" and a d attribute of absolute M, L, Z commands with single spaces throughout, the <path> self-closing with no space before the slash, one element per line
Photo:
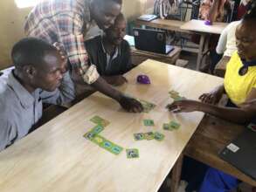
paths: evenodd
<path fill-rule="evenodd" d="M 178 189 L 178 185 L 179 185 L 181 174 L 182 174 L 182 168 L 183 168 L 183 154 L 180 154 L 171 171 L 171 183 L 170 183 L 171 192 L 176 192 Z"/>

